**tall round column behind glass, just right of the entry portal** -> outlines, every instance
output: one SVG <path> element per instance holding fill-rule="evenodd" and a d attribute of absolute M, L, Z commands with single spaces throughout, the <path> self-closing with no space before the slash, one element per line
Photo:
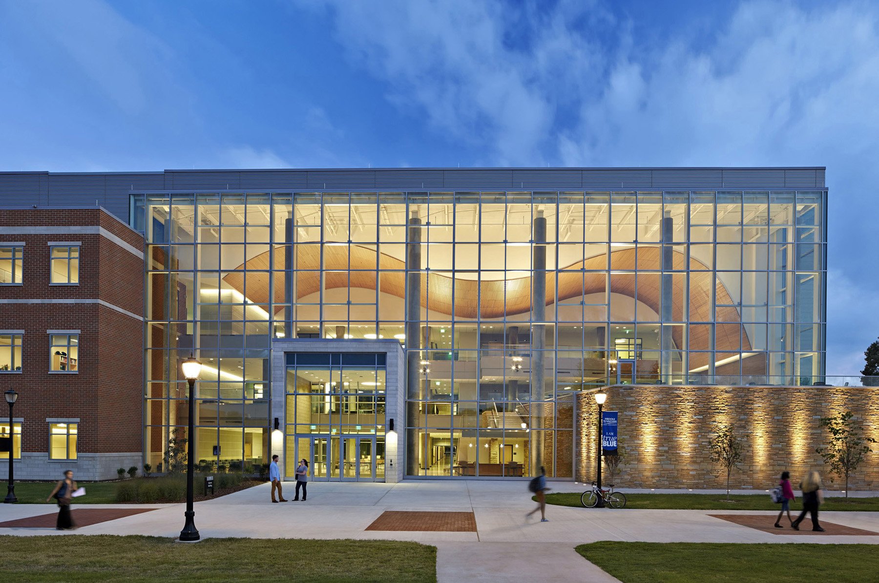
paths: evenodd
<path fill-rule="evenodd" d="M 406 432 L 406 473 L 418 474 L 418 401 L 421 398 L 421 219 L 413 211 L 409 219 L 406 244 L 406 422 L 400 428 Z"/>

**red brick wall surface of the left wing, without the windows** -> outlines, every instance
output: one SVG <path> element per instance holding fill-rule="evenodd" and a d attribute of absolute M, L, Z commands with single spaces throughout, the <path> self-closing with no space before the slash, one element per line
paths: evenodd
<path fill-rule="evenodd" d="M 46 458 L 48 418 L 79 419 L 77 463 L 140 454 L 142 237 L 100 209 L 0 210 L 0 246 L 15 242 L 25 244 L 23 283 L 0 286 L 0 329 L 24 331 L 22 370 L 0 374 L 0 383 L 18 391 L 23 462 Z M 78 285 L 50 284 L 49 242 L 79 243 Z M 47 330 L 80 331 L 76 374 L 49 371 Z"/>

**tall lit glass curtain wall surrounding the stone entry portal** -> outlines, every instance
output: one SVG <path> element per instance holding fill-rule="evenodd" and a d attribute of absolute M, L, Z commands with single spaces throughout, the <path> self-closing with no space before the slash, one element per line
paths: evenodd
<path fill-rule="evenodd" d="M 606 383 L 820 383 L 825 193 L 156 194 L 147 449 L 267 454 L 269 346 L 395 338 L 406 473 L 570 477 L 572 394 Z M 403 427 L 401 427 L 402 429 Z"/>

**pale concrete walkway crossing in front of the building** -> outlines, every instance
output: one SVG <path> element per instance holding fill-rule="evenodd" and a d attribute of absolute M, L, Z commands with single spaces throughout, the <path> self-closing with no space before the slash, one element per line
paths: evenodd
<path fill-rule="evenodd" d="M 556 492 L 585 486 L 552 483 Z M 285 488 L 287 491 L 287 488 Z M 287 492 L 290 498 L 292 487 Z M 309 484 L 306 502 L 272 504 L 269 485 L 199 502 L 195 523 L 202 537 L 393 539 L 434 544 L 439 549 L 439 580 L 505 581 L 550 578 L 559 581 L 614 580 L 573 549 L 595 541 L 656 543 L 879 543 L 879 536 L 785 536 L 761 532 L 708 514 L 765 514 L 716 510 L 587 509 L 548 506 L 548 522 L 538 515 L 525 482 L 410 480 L 397 485 Z M 130 505 L 120 505 L 131 507 Z M 116 507 L 116 506 L 87 506 Z M 145 506 L 146 507 L 146 506 Z M 178 536 L 184 505 L 152 505 L 153 512 L 83 528 L 82 535 Z M 365 530 L 385 510 L 473 512 L 476 532 L 398 532 Z M 0 521 L 55 512 L 52 505 L 0 505 Z M 879 513 L 827 512 L 825 521 L 879 532 Z M 0 534 L 33 536 L 66 533 L 43 528 L 0 528 Z"/>

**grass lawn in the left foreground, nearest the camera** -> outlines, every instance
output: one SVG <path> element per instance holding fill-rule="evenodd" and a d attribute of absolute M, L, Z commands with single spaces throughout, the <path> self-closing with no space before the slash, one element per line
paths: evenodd
<path fill-rule="evenodd" d="M 437 580 L 436 547 L 399 541 L 0 536 L 0 565 L 8 581 Z"/>

